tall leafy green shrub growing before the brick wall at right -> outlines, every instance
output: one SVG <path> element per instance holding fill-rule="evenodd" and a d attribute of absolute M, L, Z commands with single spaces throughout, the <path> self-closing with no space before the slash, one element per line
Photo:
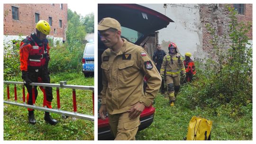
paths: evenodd
<path fill-rule="evenodd" d="M 223 45 L 219 45 L 218 33 L 208 25 L 217 60 L 195 61 L 195 79 L 182 87 L 181 95 L 187 97 L 183 104 L 186 107 L 209 107 L 217 115 L 236 117 L 252 112 L 252 47 L 246 47 L 250 24 L 238 23 L 236 11 L 228 9 L 230 48 L 221 48 Z"/>

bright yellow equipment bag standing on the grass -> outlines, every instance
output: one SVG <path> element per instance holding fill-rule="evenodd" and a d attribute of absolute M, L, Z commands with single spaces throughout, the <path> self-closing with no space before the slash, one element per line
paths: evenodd
<path fill-rule="evenodd" d="M 212 121 L 193 116 L 185 140 L 210 140 Z"/>

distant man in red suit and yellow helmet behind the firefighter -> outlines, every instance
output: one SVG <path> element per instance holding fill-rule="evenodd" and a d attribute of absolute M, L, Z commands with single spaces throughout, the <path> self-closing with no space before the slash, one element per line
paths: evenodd
<path fill-rule="evenodd" d="M 185 54 L 184 65 L 186 69 L 186 82 L 192 81 L 193 75 L 196 74 L 195 63 L 192 61 L 191 53 Z"/>

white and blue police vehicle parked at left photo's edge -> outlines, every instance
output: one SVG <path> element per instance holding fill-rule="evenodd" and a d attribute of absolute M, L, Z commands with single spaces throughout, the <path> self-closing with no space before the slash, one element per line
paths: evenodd
<path fill-rule="evenodd" d="M 94 43 L 87 43 L 82 56 L 82 72 L 85 77 L 94 74 Z"/>

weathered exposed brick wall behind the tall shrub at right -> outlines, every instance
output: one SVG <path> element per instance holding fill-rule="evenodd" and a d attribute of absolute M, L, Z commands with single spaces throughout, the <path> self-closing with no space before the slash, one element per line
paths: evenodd
<path fill-rule="evenodd" d="M 200 20 L 202 26 L 202 39 L 204 52 L 207 52 L 209 57 L 216 59 L 213 52 L 213 46 L 210 44 L 212 36 L 208 32 L 206 25 L 210 24 L 217 30 L 219 35 L 219 43 L 223 44 L 225 49 L 229 48 L 231 45 L 231 40 L 227 36 L 229 30 L 229 11 L 225 6 L 226 4 L 200 4 Z M 232 5 L 230 5 L 232 6 Z M 246 4 L 245 15 L 238 15 L 238 21 L 251 21 L 252 22 L 252 4 Z M 227 36 L 227 38 L 224 38 Z M 252 39 L 252 28 L 247 36 Z"/>

